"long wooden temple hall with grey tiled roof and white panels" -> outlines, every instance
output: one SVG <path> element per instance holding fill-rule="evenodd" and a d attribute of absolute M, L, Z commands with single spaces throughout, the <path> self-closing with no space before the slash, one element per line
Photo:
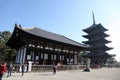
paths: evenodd
<path fill-rule="evenodd" d="M 65 36 L 48 32 L 39 28 L 24 29 L 15 24 L 14 31 L 6 43 L 17 50 L 15 63 L 32 61 L 33 64 L 64 65 L 78 64 L 78 53 L 87 46 Z"/>

